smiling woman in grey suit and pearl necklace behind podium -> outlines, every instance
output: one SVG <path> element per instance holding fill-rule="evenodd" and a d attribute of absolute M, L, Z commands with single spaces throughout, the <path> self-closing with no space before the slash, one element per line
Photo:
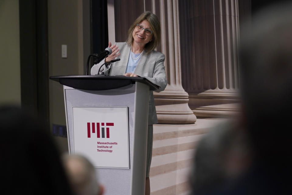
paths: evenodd
<path fill-rule="evenodd" d="M 159 86 L 157 92 L 163 91 L 167 85 L 164 60 L 165 55 L 155 51 L 161 39 L 160 22 L 157 16 L 151 12 L 142 13 L 132 23 L 128 30 L 126 42 L 111 44 L 112 53 L 91 69 L 91 75 L 98 73 L 99 67 L 113 59 L 120 58 L 113 65 L 107 64 L 101 67 L 100 72 L 106 72 L 110 76 L 139 76 L 145 77 Z M 146 190 L 150 194 L 149 171 L 152 158 L 153 124 L 157 123 L 157 115 L 153 92 L 150 91 L 149 115 L 148 115 L 148 141 L 146 162 Z"/>

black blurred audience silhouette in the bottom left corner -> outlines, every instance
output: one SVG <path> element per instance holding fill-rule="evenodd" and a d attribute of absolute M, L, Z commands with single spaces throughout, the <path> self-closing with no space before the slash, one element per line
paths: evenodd
<path fill-rule="evenodd" d="M 0 107 L 1 194 L 72 194 L 57 148 L 29 111 Z"/>

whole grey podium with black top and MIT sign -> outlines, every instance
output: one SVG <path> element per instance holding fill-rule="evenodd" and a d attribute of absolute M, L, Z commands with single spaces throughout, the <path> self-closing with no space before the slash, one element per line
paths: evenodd
<path fill-rule="evenodd" d="M 64 85 L 70 154 L 92 162 L 105 195 L 144 194 L 149 89 L 157 86 L 141 77 L 50 79 Z"/>

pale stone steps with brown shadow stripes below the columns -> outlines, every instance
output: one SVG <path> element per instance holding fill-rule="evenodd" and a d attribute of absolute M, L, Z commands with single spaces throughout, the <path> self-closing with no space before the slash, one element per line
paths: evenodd
<path fill-rule="evenodd" d="M 197 119 L 196 124 L 153 126 L 151 195 L 189 194 L 189 174 L 196 145 L 222 119 Z"/>

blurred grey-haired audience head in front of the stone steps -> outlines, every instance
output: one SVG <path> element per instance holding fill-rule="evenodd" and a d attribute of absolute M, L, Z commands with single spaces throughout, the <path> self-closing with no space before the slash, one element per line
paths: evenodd
<path fill-rule="evenodd" d="M 229 189 L 249 169 L 251 161 L 249 139 L 237 122 L 214 127 L 196 148 L 190 178 L 193 194 Z"/>

